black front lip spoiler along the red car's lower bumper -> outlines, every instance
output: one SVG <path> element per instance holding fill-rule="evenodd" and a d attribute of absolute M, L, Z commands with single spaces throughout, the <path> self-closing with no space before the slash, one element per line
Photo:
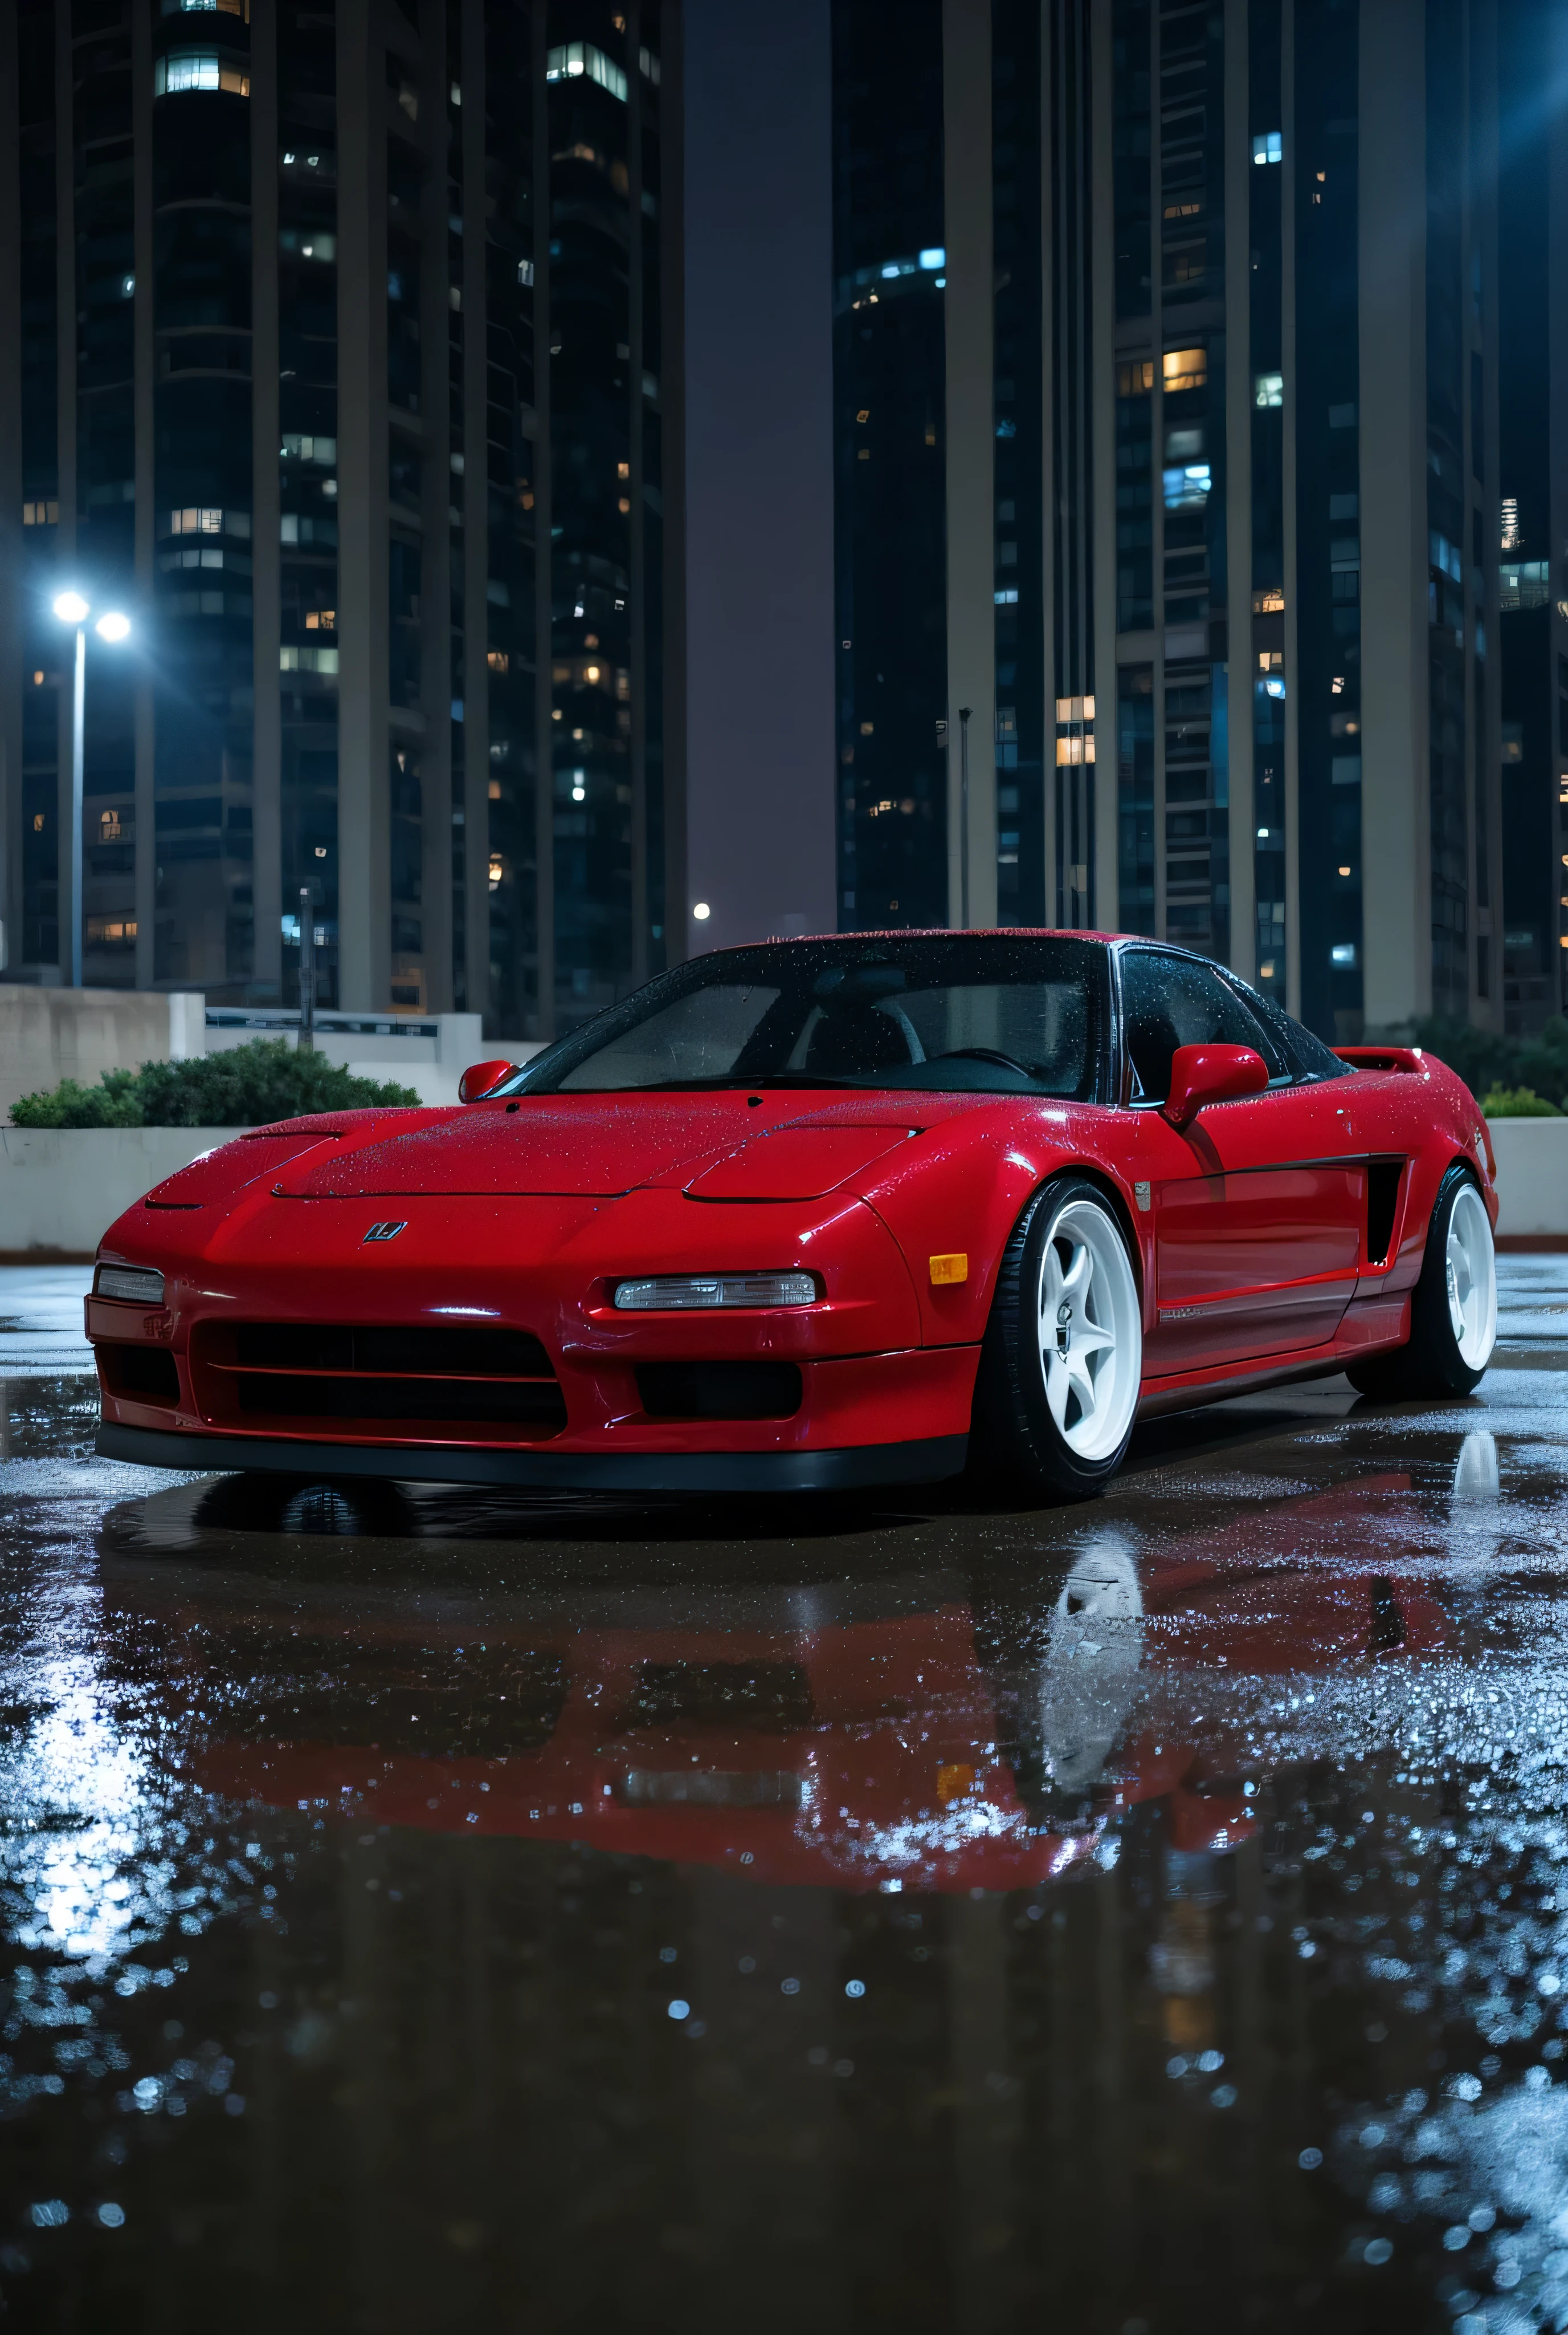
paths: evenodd
<path fill-rule="evenodd" d="M 98 1457 L 131 1466 L 254 1473 L 380 1476 L 385 1483 L 488 1483 L 541 1492 L 852 1492 L 859 1485 L 943 1483 L 961 1476 L 968 1436 L 859 1443 L 831 1452 L 548 1452 L 397 1450 L 378 1443 L 285 1443 L 273 1436 L 191 1436 L 161 1427 L 98 1429 Z"/>

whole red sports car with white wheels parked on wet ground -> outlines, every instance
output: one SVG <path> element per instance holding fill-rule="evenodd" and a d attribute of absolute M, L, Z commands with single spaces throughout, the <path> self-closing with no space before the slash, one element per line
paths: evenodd
<path fill-rule="evenodd" d="M 1134 1420 L 1468 1394 L 1496 1163 L 1416 1048 L 1078 932 L 768 941 L 455 1109 L 257 1128 L 105 1235 L 112 1459 L 637 1492 L 1087 1494 Z"/>

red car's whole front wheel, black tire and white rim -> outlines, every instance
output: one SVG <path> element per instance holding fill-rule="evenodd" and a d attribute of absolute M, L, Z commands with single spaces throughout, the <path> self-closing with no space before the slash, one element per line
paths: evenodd
<path fill-rule="evenodd" d="M 1083 1287 L 1052 1310 L 1057 1352 L 1048 1361 L 1045 1284 L 1064 1268 L 1078 1270 L 1080 1252 L 1092 1263 Z M 1017 1219 L 996 1275 L 975 1382 L 971 1473 L 996 1476 L 1024 1497 L 1092 1499 L 1127 1452 L 1141 1364 L 1139 1277 L 1115 1210 L 1087 1177 L 1055 1177 Z M 1062 1420 L 1052 1399 L 1064 1401 Z"/>

